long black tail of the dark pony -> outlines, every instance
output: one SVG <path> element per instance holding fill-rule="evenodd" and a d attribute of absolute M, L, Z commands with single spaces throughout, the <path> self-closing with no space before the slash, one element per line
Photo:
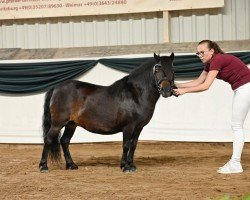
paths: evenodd
<path fill-rule="evenodd" d="M 50 89 L 45 95 L 45 102 L 44 102 L 44 112 L 43 112 L 43 140 L 46 143 L 48 139 L 48 133 L 51 127 L 51 113 L 50 113 L 50 100 L 53 94 L 53 89 Z M 47 146 L 48 148 L 48 155 L 52 161 L 59 161 L 61 158 L 61 149 L 60 149 L 60 133 L 58 137 L 50 137 L 52 141 Z"/>

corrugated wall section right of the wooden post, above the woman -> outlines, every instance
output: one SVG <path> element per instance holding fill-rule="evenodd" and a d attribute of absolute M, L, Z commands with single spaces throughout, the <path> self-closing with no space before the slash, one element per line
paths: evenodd
<path fill-rule="evenodd" d="M 171 13 L 171 42 L 250 39 L 250 1 L 225 0 L 218 9 Z"/>

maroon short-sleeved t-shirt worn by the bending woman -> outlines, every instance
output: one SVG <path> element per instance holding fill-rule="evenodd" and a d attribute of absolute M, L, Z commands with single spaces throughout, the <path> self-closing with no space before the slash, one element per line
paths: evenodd
<path fill-rule="evenodd" d="M 250 82 L 250 69 L 239 58 L 230 54 L 215 54 L 204 70 L 219 71 L 216 78 L 228 82 L 233 90 Z"/>

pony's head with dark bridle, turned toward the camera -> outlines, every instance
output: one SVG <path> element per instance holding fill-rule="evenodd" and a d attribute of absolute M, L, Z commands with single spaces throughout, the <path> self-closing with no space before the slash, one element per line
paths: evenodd
<path fill-rule="evenodd" d="M 160 56 L 154 53 L 154 58 L 156 64 L 153 67 L 153 74 L 156 87 L 163 97 L 170 97 L 173 95 L 173 89 L 176 88 L 173 70 L 174 53 L 170 56 Z"/>

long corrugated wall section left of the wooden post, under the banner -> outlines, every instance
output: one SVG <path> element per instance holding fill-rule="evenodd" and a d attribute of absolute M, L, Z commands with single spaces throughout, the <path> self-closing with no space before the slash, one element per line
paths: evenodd
<path fill-rule="evenodd" d="M 62 48 L 157 44 L 162 14 L 0 20 L 0 48 Z"/>

